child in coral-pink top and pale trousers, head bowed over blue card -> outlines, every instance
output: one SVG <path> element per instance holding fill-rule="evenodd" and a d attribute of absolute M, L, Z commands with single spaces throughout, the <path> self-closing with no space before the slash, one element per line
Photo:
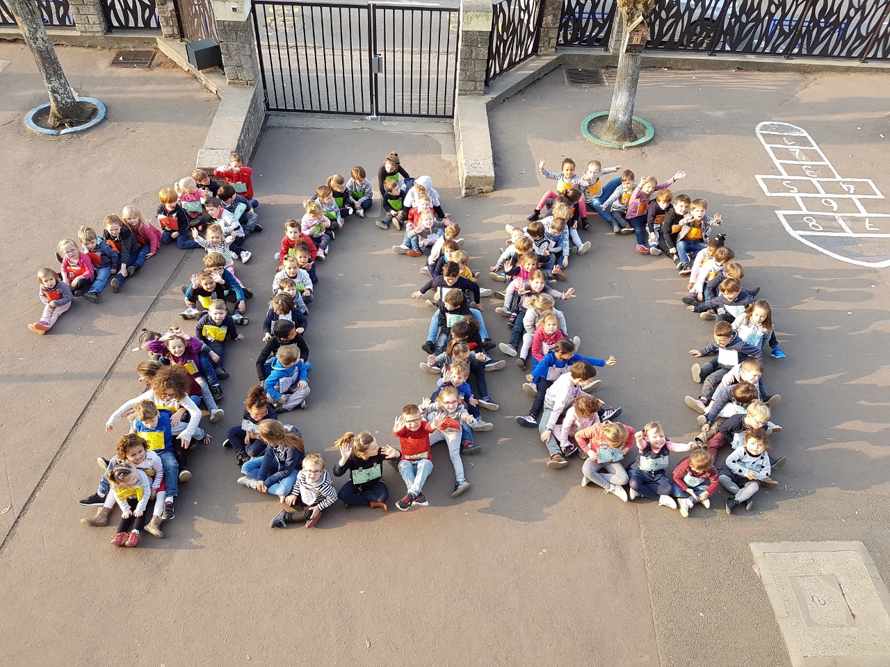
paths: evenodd
<path fill-rule="evenodd" d="M 593 482 L 607 494 L 615 494 L 627 502 L 627 470 L 621 465 L 624 455 L 634 444 L 635 431 L 618 422 L 594 423 L 575 433 L 578 447 L 587 456 L 581 471 L 581 486 Z"/>

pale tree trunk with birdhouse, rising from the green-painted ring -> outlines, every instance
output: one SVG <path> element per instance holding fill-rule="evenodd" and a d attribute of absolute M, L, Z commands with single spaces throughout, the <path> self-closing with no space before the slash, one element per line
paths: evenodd
<path fill-rule="evenodd" d="M 618 0 L 621 16 L 619 28 L 621 30 L 621 42 L 627 39 L 627 27 L 638 17 L 643 17 L 643 22 L 649 20 L 652 10 L 658 0 Z M 612 93 L 609 119 L 603 126 L 603 139 L 615 143 L 634 141 L 634 104 L 636 101 L 636 84 L 640 79 L 640 54 L 626 53 L 621 48 L 618 59 L 618 72 L 615 78 L 615 92 Z"/>

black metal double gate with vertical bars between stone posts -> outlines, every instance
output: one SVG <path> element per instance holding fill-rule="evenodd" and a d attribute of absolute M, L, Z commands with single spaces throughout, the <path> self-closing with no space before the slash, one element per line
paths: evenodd
<path fill-rule="evenodd" d="M 452 117 L 457 9 L 255 0 L 266 108 Z"/>

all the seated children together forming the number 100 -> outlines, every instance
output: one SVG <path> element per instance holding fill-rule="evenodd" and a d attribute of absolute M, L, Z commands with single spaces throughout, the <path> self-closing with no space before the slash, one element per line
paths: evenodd
<path fill-rule="evenodd" d="M 490 277 L 506 283 L 506 289 L 497 293 L 503 305 L 496 312 L 507 317 L 511 332 L 509 343 L 497 345 L 482 316 L 481 298 L 492 290 L 481 287 L 480 272 L 468 266 L 461 229 L 442 210 L 432 180 L 411 179 L 395 153 L 384 159 L 377 184 L 384 215 L 376 226 L 404 231 L 402 244 L 393 247 L 396 253 L 425 258 L 420 270 L 428 280 L 412 296 L 433 293 L 426 301 L 434 312 L 421 346 L 426 356 L 420 366 L 435 374 L 437 382 L 428 396 L 404 406 L 393 423 L 398 448 L 377 443 L 368 431 L 347 432 L 336 443 L 339 460 L 330 472 L 321 454 L 306 454 L 302 434 L 280 422 L 279 413 L 307 407 L 312 364 L 304 333 L 309 325 L 307 303 L 314 300 L 318 281 L 316 262 L 331 252 L 345 221 L 364 217 L 374 195 L 365 170 L 355 166 L 348 180 L 335 174 L 305 201 L 302 220 L 285 222 L 275 254 L 263 349 L 256 359 L 260 383 L 248 391 L 242 418 L 223 443 L 231 447 L 239 465 L 238 483 L 277 495 L 286 506 L 271 519 L 271 527 L 293 522 L 315 526 L 338 499 L 346 507 L 388 510 L 386 461 L 406 486 L 396 507 L 427 505 L 423 489 L 433 470 L 431 446 L 437 442 L 448 447 L 454 471 L 452 496 L 464 493 L 470 483 L 463 457 L 481 452 L 473 432 L 493 428 L 481 419 L 480 408 L 498 410 L 486 382 L 487 373 L 506 366 L 505 360 L 489 356 L 496 347 L 527 373 L 522 390 L 533 403 L 516 422 L 538 428 L 548 468 L 568 466 L 571 454 L 582 456 L 583 486 L 593 483 L 626 502 L 642 495 L 679 509 L 684 516 L 696 502 L 709 506 L 719 485 L 732 494 L 727 512 L 740 503 L 750 509 L 760 486 L 775 486 L 770 475 L 784 458 L 771 460 L 766 452 L 769 434 L 781 430 L 770 421 L 770 406 L 779 397 L 766 393 L 761 345 L 769 342 L 774 358 L 784 354 L 773 332 L 770 306 L 755 301 L 756 290 L 741 288 L 744 270 L 734 261 L 724 235 L 712 234 L 719 215 L 709 218 L 703 200 L 691 202 L 667 190 L 684 177 L 683 172 L 663 183 L 647 176 L 637 186 L 633 173 L 624 170 L 600 184 L 601 174 L 619 169 L 603 169 L 592 161 L 580 177 L 571 160 L 563 161 L 562 173 L 546 172 L 541 162 L 541 173 L 558 181 L 556 189 L 541 198 L 528 228 L 507 226 L 510 239 L 490 267 Z M 244 241 L 262 230 L 255 212 L 258 203 L 249 167 L 238 156 L 233 154 L 231 164 L 214 175 L 228 182 L 219 185 L 198 170 L 174 189 L 161 190 L 157 212 L 161 229 L 127 207 L 121 216 L 103 221 L 101 237 L 81 228 L 78 242 L 60 244 L 61 277 L 53 269 L 41 269 L 38 276 L 45 309 L 31 328 L 44 333 L 68 309 L 74 295 L 97 301 L 112 275 L 117 292 L 160 244 L 175 241 L 183 249 L 206 250 L 204 268 L 182 285 L 186 309 L 180 317 L 198 320 L 195 333 L 190 335 L 181 326 L 165 333 L 140 333 L 140 346 L 151 355 L 137 366 L 146 391 L 109 418 L 109 432 L 123 418 L 129 419 L 128 432 L 118 439 L 112 458 L 100 459 L 104 474 L 97 491 L 80 503 L 99 507 L 93 518 L 82 519 L 89 526 L 107 525 L 117 504 L 122 517 L 112 540 L 117 546 L 136 546 L 143 529 L 162 537 L 161 524 L 174 518 L 178 485 L 191 478 L 188 454 L 211 440 L 199 428 L 202 414 L 210 422 L 224 416 L 217 401 L 223 398 L 221 381 L 229 377 L 225 343 L 242 340 L 236 325 L 249 322 L 246 301 L 253 293 L 237 277 L 234 262 L 247 262 L 250 252 Z M 547 208 L 551 212 L 544 216 Z M 616 233 L 635 232 L 643 241 L 637 244 L 639 252 L 675 256 L 681 274 L 689 275 L 689 296 L 683 300 L 687 308 L 718 320 L 714 342 L 690 352 L 695 357 L 716 353 L 708 363 L 692 366 L 693 379 L 703 386 L 699 397 L 686 398 L 687 405 L 700 413 L 701 433 L 691 443 L 670 441 L 658 422 L 649 422 L 642 430 L 617 422 L 621 408 L 595 398 L 601 385 L 595 368 L 612 366 L 616 359 L 579 355 L 578 336 L 570 337 L 566 318 L 555 308 L 556 301 L 575 296 L 572 288 L 560 292 L 554 285 L 566 279 L 570 254 L 590 249 L 591 242 L 579 237 L 578 226 L 589 227 L 591 209 Z M 726 445 L 732 446 L 732 454 L 717 470 L 716 453 Z M 632 447 L 638 455 L 626 469 L 623 460 Z M 689 455 L 668 473 L 667 454 L 672 451 Z M 339 491 L 332 473 L 348 474 Z"/>

